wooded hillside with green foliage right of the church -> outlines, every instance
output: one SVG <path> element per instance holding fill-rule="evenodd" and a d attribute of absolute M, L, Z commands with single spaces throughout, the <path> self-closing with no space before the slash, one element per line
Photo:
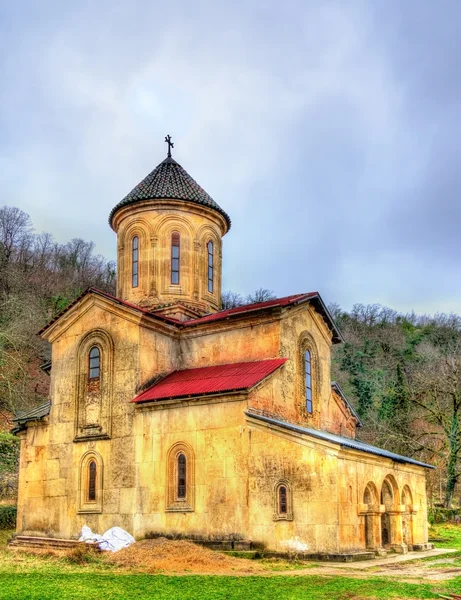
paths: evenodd
<path fill-rule="evenodd" d="M 461 318 L 379 305 L 333 310 L 346 340 L 334 348 L 333 379 L 364 422 L 359 436 L 435 462 L 449 507 L 461 478 Z"/>

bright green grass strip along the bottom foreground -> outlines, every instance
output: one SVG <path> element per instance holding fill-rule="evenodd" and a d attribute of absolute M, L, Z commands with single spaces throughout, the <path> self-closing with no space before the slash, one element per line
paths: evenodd
<path fill-rule="evenodd" d="M 218 577 L 129 575 L 117 573 L 3 573 L 0 572 L 2 600 L 351 600 L 390 598 L 436 598 L 433 586 L 401 583 L 383 578 L 274 576 Z M 453 583 L 453 581 L 452 581 Z M 438 588 L 447 591 L 449 588 Z M 461 589 L 458 586 L 451 591 Z"/>

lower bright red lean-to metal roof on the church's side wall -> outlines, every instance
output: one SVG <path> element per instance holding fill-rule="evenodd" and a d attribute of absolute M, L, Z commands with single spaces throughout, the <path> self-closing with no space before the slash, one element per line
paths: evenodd
<path fill-rule="evenodd" d="M 273 358 L 174 371 L 133 398 L 132 402 L 246 390 L 262 381 L 286 361 L 286 358 Z"/>

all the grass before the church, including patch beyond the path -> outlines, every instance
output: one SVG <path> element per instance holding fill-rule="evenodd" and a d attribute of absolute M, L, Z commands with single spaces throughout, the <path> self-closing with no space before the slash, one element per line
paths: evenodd
<path fill-rule="evenodd" d="M 461 534 L 443 526 L 446 532 Z M 0 545 L 9 533 L 0 532 Z M 461 549 L 461 546 L 460 546 Z M 122 570 L 104 556 L 78 564 L 69 558 L 34 556 L 0 547 L 1 600 L 391 600 L 438 598 L 461 591 L 460 577 L 446 582 L 405 583 L 396 578 L 332 575 L 147 575 Z M 365 567 L 365 565 L 364 565 Z M 461 573 L 461 572 L 460 572 Z"/>

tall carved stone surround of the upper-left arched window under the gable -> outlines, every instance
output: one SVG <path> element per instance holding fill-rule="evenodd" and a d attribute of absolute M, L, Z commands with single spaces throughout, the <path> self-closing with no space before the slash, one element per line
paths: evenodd
<path fill-rule="evenodd" d="M 89 352 L 97 347 L 100 372 L 97 381 L 89 378 Z M 75 441 L 107 439 L 112 425 L 114 342 L 104 329 L 93 329 L 77 346 Z"/>

